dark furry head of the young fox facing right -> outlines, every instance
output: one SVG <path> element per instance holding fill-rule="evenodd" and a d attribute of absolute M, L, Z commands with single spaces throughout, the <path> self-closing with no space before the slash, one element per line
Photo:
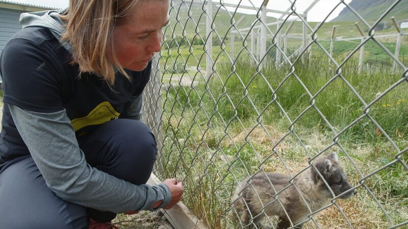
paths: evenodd
<path fill-rule="evenodd" d="M 320 174 L 336 196 L 348 191 L 340 197 L 342 199 L 348 199 L 357 194 L 355 189 L 351 190 L 352 186 L 348 183 L 346 174 L 339 163 L 339 158 L 336 153 L 331 153 L 325 157 L 318 158 L 314 162 L 314 166 L 319 170 Z M 312 173 L 317 181 L 321 180 L 321 177 L 315 169 L 312 169 Z M 321 182 L 321 186 L 322 188 L 328 189 L 324 182 Z"/>

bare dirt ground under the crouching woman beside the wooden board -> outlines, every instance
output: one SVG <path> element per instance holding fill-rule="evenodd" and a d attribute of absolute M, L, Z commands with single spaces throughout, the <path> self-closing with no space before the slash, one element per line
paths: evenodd
<path fill-rule="evenodd" d="M 3 117 L 3 102 L 0 102 L 0 120 Z M 0 127 L 2 126 L 0 122 Z M 134 215 L 119 214 L 113 223 L 119 228 L 174 229 L 162 212 L 142 211 Z"/>

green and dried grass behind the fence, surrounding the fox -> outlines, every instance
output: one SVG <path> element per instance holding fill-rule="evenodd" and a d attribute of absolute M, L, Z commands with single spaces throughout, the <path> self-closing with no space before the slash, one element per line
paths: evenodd
<path fill-rule="evenodd" d="M 170 83 L 172 87 L 162 94 L 166 161 L 163 177 L 176 176 L 183 180 L 186 187 L 183 202 L 210 228 L 238 227 L 230 209 L 237 182 L 259 169 L 296 174 L 307 165 L 308 157 L 333 142 L 332 128 L 337 133 L 344 130 L 338 142 L 357 167 L 345 154 L 341 153 L 340 157 L 354 185 L 395 159 L 396 149 L 384 133 L 400 150 L 408 147 L 406 82 L 370 107 L 370 117 L 384 133 L 378 132 L 369 117 L 344 129 L 361 117 L 364 110 L 363 102 L 345 81 L 368 104 L 398 81 L 400 73 L 393 74 L 388 65 L 359 73 L 356 61 L 350 60 L 342 67 L 342 78 L 337 77 L 319 92 L 336 73 L 324 55 L 315 53 L 305 64 L 295 63 L 293 74 L 290 74 L 290 66 L 276 68 L 273 60 L 265 60 L 259 69 L 242 55 L 234 66 L 220 61 L 217 74 L 211 80 L 202 77 L 193 87 L 174 84 L 166 77 L 183 78 L 194 72 L 165 76 L 163 83 Z M 342 56 L 339 54 L 338 58 Z M 314 105 L 305 111 L 311 106 L 311 96 L 315 95 Z M 289 126 L 295 119 L 298 120 L 292 132 Z M 336 146 L 330 150 L 342 152 Z M 401 160 L 408 162 L 406 155 Z M 408 208 L 406 179 L 401 179 L 407 175 L 397 162 L 365 181 L 395 223 L 408 219 L 407 214 L 401 213 Z M 359 192 L 354 201 L 339 202 L 352 225 L 356 228 L 390 225 L 366 189 L 360 187 Z M 330 222 L 334 218 L 338 220 L 336 228 L 347 227 L 336 208 L 317 216 L 323 227 L 333 227 Z"/>

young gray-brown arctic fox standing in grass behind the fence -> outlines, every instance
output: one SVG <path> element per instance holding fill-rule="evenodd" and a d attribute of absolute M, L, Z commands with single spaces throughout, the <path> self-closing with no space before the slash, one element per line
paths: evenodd
<path fill-rule="evenodd" d="M 351 190 L 352 187 L 347 181 L 336 153 L 317 158 L 313 165 L 336 196 L 347 191 L 341 196 L 342 199 L 347 199 L 357 193 L 356 190 Z M 310 210 L 314 212 L 326 206 L 333 198 L 313 166 L 294 178 L 292 185 L 290 179 L 289 175 L 259 173 L 250 182 L 247 178 L 238 185 L 232 201 L 237 212 L 241 212 L 242 223 L 249 224 L 249 220 L 253 217 L 253 223 L 259 228 L 262 226 L 265 214 L 276 215 L 279 216 L 276 228 L 288 228 L 291 226 L 290 221 L 296 225 L 308 219 Z M 285 187 L 287 188 L 284 189 Z M 279 192 L 282 189 L 284 190 Z M 275 191 L 278 192 L 277 195 Z M 302 224 L 295 228 L 302 228 Z"/>

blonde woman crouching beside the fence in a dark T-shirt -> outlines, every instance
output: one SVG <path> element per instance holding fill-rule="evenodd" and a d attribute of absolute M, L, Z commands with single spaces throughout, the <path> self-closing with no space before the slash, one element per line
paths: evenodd
<path fill-rule="evenodd" d="M 0 225 L 106 228 L 171 208 L 183 186 L 147 182 L 156 140 L 140 122 L 168 0 L 71 0 L 24 13 L 0 58 Z"/>

